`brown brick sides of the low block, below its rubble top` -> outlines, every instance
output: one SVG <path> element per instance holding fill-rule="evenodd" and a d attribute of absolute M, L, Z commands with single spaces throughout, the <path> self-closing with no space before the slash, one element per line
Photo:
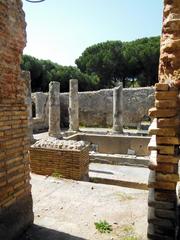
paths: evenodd
<path fill-rule="evenodd" d="M 75 150 L 32 145 L 30 161 L 34 173 L 48 176 L 59 174 L 63 178 L 82 180 L 88 176 L 89 147 L 85 145 L 82 149 Z"/>

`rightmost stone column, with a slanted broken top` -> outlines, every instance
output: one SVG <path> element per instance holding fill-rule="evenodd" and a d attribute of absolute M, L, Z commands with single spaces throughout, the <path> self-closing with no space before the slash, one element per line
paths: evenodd
<path fill-rule="evenodd" d="M 113 132 L 123 132 L 123 87 L 113 89 Z"/>

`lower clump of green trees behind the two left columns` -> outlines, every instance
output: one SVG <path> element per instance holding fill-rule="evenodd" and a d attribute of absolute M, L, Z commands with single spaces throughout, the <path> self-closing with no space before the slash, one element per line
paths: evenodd
<path fill-rule="evenodd" d="M 61 92 L 69 91 L 69 80 L 79 81 L 79 90 L 96 89 L 99 78 L 97 75 L 82 73 L 77 67 L 61 66 L 50 60 L 39 60 L 29 55 L 23 55 L 21 68 L 30 71 L 32 91 L 48 91 L 51 81 L 61 83 Z"/>

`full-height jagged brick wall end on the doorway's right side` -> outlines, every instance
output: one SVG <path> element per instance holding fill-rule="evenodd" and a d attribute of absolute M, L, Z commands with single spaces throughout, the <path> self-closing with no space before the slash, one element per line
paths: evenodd
<path fill-rule="evenodd" d="M 179 88 L 180 88 L 180 1 L 164 1 L 159 83 L 155 107 L 149 110 L 154 121 L 149 177 L 149 239 L 180 239 L 177 194 L 179 181 Z M 178 235 L 178 236 L 177 236 Z"/>

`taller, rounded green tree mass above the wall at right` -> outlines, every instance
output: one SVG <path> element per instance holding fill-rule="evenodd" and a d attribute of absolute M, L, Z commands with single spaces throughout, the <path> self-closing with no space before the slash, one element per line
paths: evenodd
<path fill-rule="evenodd" d="M 88 47 L 75 62 L 82 72 L 99 77 L 99 88 L 112 87 L 119 81 L 124 87 L 134 82 L 151 86 L 158 78 L 159 52 L 159 37 L 107 41 Z"/>

